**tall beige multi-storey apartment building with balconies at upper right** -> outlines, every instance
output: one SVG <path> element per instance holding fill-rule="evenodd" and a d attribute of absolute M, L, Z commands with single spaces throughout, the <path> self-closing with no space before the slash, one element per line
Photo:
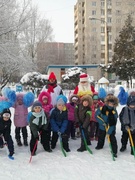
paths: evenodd
<path fill-rule="evenodd" d="M 111 62 L 115 39 L 128 14 L 134 18 L 134 0 L 78 0 L 74 6 L 75 64 L 105 63 L 105 53 Z"/>

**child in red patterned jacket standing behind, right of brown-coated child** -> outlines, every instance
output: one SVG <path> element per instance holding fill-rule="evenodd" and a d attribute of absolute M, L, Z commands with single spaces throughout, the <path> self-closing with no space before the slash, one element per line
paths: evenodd
<path fill-rule="evenodd" d="M 93 99 L 93 104 L 91 106 L 92 116 L 90 119 L 90 139 L 91 139 L 91 141 L 93 141 L 94 139 L 97 141 L 98 140 L 99 125 L 98 125 L 98 122 L 95 118 L 95 112 L 99 107 L 102 107 L 104 105 L 104 103 L 101 100 L 99 100 L 97 92 L 95 92 L 93 94 L 92 99 Z"/>

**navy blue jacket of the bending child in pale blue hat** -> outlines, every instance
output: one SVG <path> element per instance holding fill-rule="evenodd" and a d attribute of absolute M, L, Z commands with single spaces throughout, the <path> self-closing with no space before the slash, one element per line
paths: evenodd
<path fill-rule="evenodd" d="M 52 110 L 50 116 L 52 131 L 64 133 L 68 125 L 67 110 L 60 111 L 57 107 Z"/>

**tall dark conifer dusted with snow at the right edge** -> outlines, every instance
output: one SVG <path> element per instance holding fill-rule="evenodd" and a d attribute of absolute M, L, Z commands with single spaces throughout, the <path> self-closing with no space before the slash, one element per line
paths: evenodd
<path fill-rule="evenodd" d="M 132 25 L 132 17 L 128 16 L 125 25 L 119 33 L 114 44 L 114 55 L 108 72 L 116 73 L 120 79 L 129 80 L 135 77 L 135 27 Z"/>

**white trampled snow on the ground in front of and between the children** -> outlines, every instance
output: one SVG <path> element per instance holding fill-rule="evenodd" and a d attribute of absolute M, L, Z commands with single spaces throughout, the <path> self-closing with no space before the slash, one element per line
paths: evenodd
<path fill-rule="evenodd" d="M 118 106 L 120 112 L 122 106 Z M 11 108 L 12 116 L 14 109 Z M 29 127 L 28 134 L 30 140 Z M 42 145 L 38 144 L 37 155 L 32 157 L 28 147 L 18 147 L 14 138 L 14 123 L 12 123 L 12 137 L 15 145 L 15 160 L 7 157 L 5 147 L 0 149 L 0 179 L 1 180 L 133 180 L 135 177 L 135 158 L 130 155 L 130 145 L 123 153 L 121 147 L 120 123 L 117 124 L 118 158 L 112 160 L 108 141 L 104 148 L 96 150 L 96 141 L 89 146 L 93 155 L 88 151 L 77 152 L 80 147 L 80 138 L 69 140 L 71 152 L 64 157 L 59 141 L 52 153 L 45 152 Z"/>

